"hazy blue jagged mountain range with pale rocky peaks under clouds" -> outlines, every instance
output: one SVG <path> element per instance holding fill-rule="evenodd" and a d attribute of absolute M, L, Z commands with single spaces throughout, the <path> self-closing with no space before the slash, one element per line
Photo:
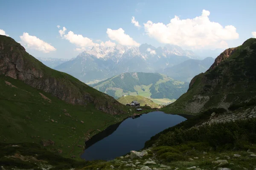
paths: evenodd
<path fill-rule="evenodd" d="M 76 58 L 55 67 L 83 82 L 107 79 L 124 72 L 155 72 L 196 57 L 192 51 L 175 45 L 155 48 L 142 44 L 140 47 L 94 46 Z"/>

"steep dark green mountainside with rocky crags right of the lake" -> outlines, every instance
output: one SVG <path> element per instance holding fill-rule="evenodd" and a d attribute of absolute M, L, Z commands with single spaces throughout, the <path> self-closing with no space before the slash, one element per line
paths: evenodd
<path fill-rule="evenodd" d="M 256 98 L 256 39 L 221 53 L 208 71 L 195 76 L 188 91 L 163 108 L 197 114 L 209 108 L 226 110 L 250 105 Z"/>

